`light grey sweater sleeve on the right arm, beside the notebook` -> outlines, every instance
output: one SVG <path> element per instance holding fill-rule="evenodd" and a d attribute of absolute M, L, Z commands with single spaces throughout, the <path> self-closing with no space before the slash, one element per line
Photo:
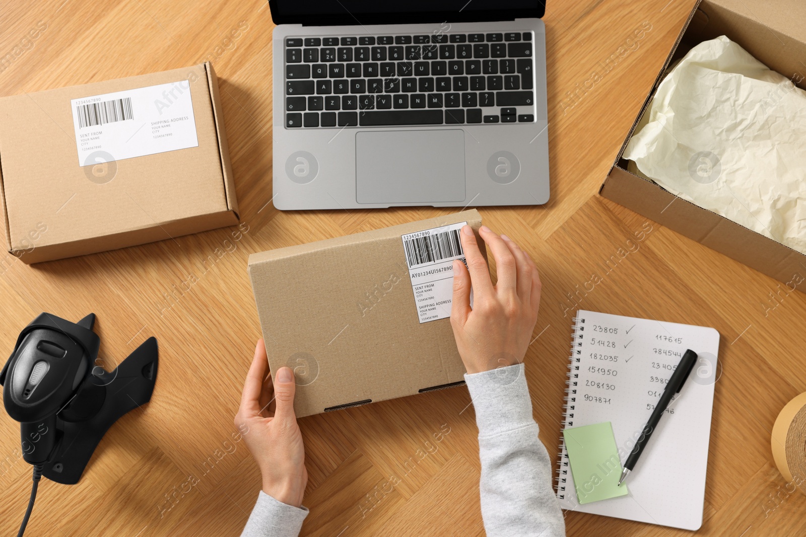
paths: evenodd
<path fill-rule="evenodd" d="M 523 364 L 464 378 L 479 428 L 481 516 L 488 537 L 564 536 Z"/>

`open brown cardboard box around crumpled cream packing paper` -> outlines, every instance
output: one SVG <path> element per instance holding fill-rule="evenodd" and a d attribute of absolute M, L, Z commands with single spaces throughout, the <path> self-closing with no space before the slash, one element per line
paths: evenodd
<path fill-rule="evenodd" d="M 762 15 L 763 20 L 756 19 L 756 15 Z M 726 35 L 767 67 L 791 77 L 800 88 L 806 89 L 806 67 L 801 63 L 806 57 L 804 18 L 806 4 L 800 0 L 697 2 L 599 191 L 609 200 L 785 283 L 789 291 L 794 288 L 804 291 L 797 286 L 806 275 L 806 255 L 717 213 L 676 198 L 657 184 L 627 171 L 627 161 L 621 155 L 649 108 L 650 99 L 667 68 L 705 40 Z"/>

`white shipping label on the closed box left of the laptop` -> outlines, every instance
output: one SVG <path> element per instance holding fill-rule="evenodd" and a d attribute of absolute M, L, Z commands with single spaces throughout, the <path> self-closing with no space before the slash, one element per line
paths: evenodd
<path fill-rule="evenodd" d="M 198 147 L 190 91 L 181 80 L 72 99 L 78 165 Z"/>

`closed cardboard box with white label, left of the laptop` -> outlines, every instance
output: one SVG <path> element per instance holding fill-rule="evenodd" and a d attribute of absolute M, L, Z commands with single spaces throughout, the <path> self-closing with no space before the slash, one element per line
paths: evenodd
<path fill-rule="evenodd" d="M 221 110 L 210 63 L 0 98 L 7 250 L 33 263 L 237 224 Z"/>

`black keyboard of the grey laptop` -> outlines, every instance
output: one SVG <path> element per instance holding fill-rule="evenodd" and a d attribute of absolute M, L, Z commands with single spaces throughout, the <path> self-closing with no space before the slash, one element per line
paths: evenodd
<path fill-rule="evenodd" d="M 531 32 L 285 38 L 285 127 L 534 122 Z"/>

